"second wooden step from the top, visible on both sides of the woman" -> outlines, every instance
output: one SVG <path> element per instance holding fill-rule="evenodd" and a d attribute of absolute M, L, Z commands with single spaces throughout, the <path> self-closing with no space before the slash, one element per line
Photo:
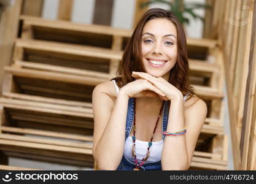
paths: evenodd
<path fill-rule="evenodd" d="M 102 56 L 102 52 L 98 48 L 90 47 L 88 49 L 91 53 L 85 52 L 81 55 L 81 53 L 77 52 L 79 49 L 76 47 L 81 47 L 81 53 L 88 48 L 74 44 L 18 39 L 14 54 L 14 63 L 17 66 L 14 67 L 58 72 L 58 74 L 95 76 L 97 79 L 102 80 L 114 78 L 122 58 L 122 52 L 117 53 L 108 50 L 112 57 Z M 94 58 L 92 59 L 91 57 Z M 71 58 L 73 59 L 71 60 Z M 115 67 L 112 62 L 113 59 L 115 60 L 113 61 L 115 62 Z M 220 75 L 222 69 L 219 63 L 202 62 L 196 59 L 190 59 L 189 62 L 190 81 L 195 90 L 198 91 L 198 94 L 222 97 L 222 82 L 220 82 L 222 80 L 222 77 L 220 77 L 222 76 Z"/>

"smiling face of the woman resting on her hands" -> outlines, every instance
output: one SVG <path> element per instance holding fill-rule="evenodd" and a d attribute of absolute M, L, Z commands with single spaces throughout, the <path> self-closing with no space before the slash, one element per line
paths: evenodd
<path fill-rule="evenodd" d="M 155 77 L 169 79 L 169 71 L 177 60 L 177 30 L 166 18 L 148 21 L 142 31 L 142 57 L 145 71 Z"/>

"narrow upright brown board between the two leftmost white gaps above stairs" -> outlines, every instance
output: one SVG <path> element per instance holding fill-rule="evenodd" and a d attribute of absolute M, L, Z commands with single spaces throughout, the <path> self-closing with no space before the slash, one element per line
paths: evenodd
<path fill-rule="evenodd" d="M 73 0 L 60 0 L 58 20 L 71 20 Z"/>

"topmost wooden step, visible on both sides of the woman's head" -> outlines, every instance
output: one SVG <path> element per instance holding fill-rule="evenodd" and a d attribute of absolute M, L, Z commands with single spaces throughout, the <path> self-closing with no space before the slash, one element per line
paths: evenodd
<path fill-rule="evenodd" d="M 120 42 L 124 48 L 128 38 L 132 34 L 130 29 L 112 28 L 111 26 L 86 25 L 72 23 L 70 21 L 45 20 L 37 17 L 21 15 L 22 38 L 54 40 L 59 42 L 71 42 L 83 45 L 96 45 L 97 47 L 113 47 L 115 37 L 120 37 Z M 67 36 L 68 35 L 68 36 Z M 92 40 L 93 42 L 90 40 Z M 97 42 L 96 40 L 100 40 Z M 187 39 L 188 47 L 214 48 L 217 40 L 211 39 Z"/>

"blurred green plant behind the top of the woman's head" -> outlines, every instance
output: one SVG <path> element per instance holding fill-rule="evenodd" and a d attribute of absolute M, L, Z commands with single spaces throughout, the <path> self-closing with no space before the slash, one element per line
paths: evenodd
<path fill-rule="evenodd" d="M 141 4 L 141 7 L 144 8 L 146 6 L 149 6 L 150 4 L 154 4 L 154 3 L 158 3 L 161 2 L 163 4 L 167 4 L 169 6 L 169 10 L 171 10 L 176 17 L 179 19 L 179 21 L 182 23 L 182 25 L 184 25 L 185 23 L 189 24 L 189 19 L 188 17 L 185 16 L 186 13 L 192 15 L 192 17 L 194 19 L 199 18 L 201 21 L 204 22 L 204 18 L 201 17 L 200 15 L 197 15 L 194 10 L 195 9 L 209 9 L 211 8 L 211 6 L 209 6 L 208 4 L 200 4 L 200 3 L 196 3 L 196 2 L 186 2 L 183 3 L 180 0 L 150 0 L 148 2 L 144 2 L 143 4 Z"/>

